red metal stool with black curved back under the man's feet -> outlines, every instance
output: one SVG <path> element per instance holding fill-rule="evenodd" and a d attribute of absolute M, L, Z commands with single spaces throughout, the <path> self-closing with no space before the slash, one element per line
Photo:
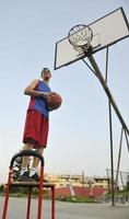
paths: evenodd
<path fill-rule="evenodd" d="M 17 157 L 36 157 L 40 160 L 40 177 L 39 182 L 12 182 L 12 174 L 13 174 L 13 163 Z M 9 196 L 10 196 L 10 188 L 14 186 L 22 186 L 28 187 L 28 198 L 27 198 L 27 211 L 26 211 L 26 219 L 30 219 L 30 210 L 31 210 L 31 195 L 32 188 L 38 187 L 38 210 L 37 210 L 37 219 L 42 219 L 42 200 L 43 200 L 43 188 L 50 188 L 51 189 L 51 219 L 55 219 L 55 185 L 49 183 L 44 183 L 44 158 L 37 152 L 33 150 L 23 150 L 16 153 L 11 162 L 10 162 L 10 170 L 9 170 L 9 177 L 7 184 L 7 192 L 5 192 L 5 199 L 3 206 L 3 214 L 2 219 L 7 219 L 7 211 L 8 211 L 8 204 L 9 204 Z"/>

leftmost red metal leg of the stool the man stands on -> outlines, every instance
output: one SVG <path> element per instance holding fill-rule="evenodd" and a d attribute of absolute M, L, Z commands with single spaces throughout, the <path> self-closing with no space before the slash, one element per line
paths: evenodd
<path fill-rule="evenodd" d="M 5 192 L 5 199 L 4 199 L 4 207 L 3 207 L 2 219 L 7 218 L 7 210 L 8 210 L 9 195 L 10 195 L 11 177 L 12 177 L 12 170 L 10 169 L 9 177 L 8 177 L 8 186 L 7 186 L 7 192 Z"/>

